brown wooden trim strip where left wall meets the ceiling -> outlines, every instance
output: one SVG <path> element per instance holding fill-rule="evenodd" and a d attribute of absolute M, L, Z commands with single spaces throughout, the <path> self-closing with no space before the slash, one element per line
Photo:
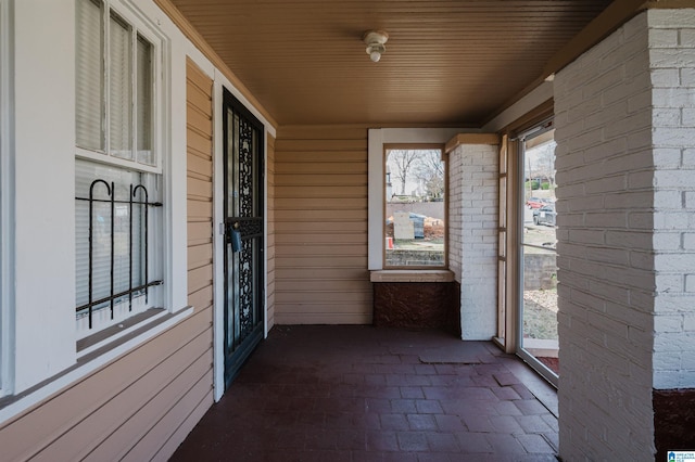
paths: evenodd
<path fill-rule="evenodd" d="M 275 128 L 278 128 L 278 123 L 268 113 L 268 111 L 258 102 L 258 100 L 251 93 L 249 88 L 231 72 L 231 69 L 225 64 L 219 55 L 213 50 L 213 48 L 205 41 L 203 36 L 193 27 L 193 25 L 184 16 L 184 14 L 176 8 L 169 0 L 154 0 L 154 3 L 166 14 L 169 20 L 181 30 L 181 33 L 188 38 L 195 48 L 198 48 L 205 57 L 207 57 L 215 67 L 217 67 L 224 76 L 235 86 L 239 92 L 251 103 L 266 120 Z"/>

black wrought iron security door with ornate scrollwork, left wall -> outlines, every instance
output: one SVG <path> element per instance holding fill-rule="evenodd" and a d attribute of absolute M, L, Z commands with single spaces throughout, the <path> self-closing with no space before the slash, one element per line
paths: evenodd
<path fill-rule="evenodd" d="M 263 338 L 263 125 L 225 90 L 225 387 Z"/>

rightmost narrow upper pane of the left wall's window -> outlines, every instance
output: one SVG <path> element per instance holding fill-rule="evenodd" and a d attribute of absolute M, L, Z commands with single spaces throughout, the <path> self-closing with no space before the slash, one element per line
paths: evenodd
<path fill-rule="evenodd" d="M 152 153 L 152 43 L 138 35 L 136 117 L 138 162 L 154 165 Z"/>

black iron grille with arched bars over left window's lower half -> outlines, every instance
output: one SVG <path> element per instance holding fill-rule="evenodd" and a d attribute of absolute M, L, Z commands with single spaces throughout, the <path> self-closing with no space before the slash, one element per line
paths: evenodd
<path fill-rule="evenodd" d="M 108 198 L 97 198 L 94 196 L 94 190 L 97 188 L 105 190 L 105 195 Z M 89 283 L 88 283 L 88 301 L 86 304 L 79 305 L 76 308 L 77 315 L 87 313 L 89 317 L 89 329 L 92 329 L 92 316 L 94 309 L 97 307 L 101 307 L 102 305 L 109 306 L 111 319 L 114 319 L 114 306 L 116 303 L 121 303 L 127 298 L 128 300 L 128 311 L 132 311 L 132 303 L 134 298 L 138 296 L 144 296 L 146 305 L 148 304 L 149 298 L 149 288 L 152 286 L 163 284 L 162 280 L 150 281 L 150 228 L 151 228 L 151 216 L 150 208 L 152 207 L 162 207 L 162 203 L 160 202 L 150 202 L 148 189 L 143 184 L 130 184 L 129 185 L 129 194 L 128 200 L 116 200 L 116 183 L 114 181 L 106 181 L 103 179 L 97 179 L 91 182 L 89 185 L 89 196 L 88 197 L 75 197 L 77 202 L 87 202 L 89 206 Z M 97 204 L 105 204 L 105 209 L 108 210 L 108 217 L 103 217 L 101 214 L 94 213 L 94 206 Z M 117 205 L 127 206 L 127 214 L 117 214 L 116 207 Z M 102 208 L 103 210 L 103 208 Z M 118 216 L 119 215 L 119 216 Z M 106 226 L 108 233 L 106 240 L 109 241 L 109 255 L 110 255 L 110 290 L 109 295 L 101 296 L 94 299 L 94 246 L 97 241 L 97 226 L 94 223 L 94 218 L 101 222 L 108 222 Z M 127 242 L 128 242 L 128 288 L 116 291 L 116 281 L 115 281 L 115 261 L 117 258 L 116 253 L 116 241 L 117 241 L 117 231 L 116 231 L 116 221 L 119 221 L 119 228 L 124 228 L 123 221 L 126 220 L 127 224 L 125 226 L 128 230 L 127 233 Z M 136 224 L 134 223 L 136 220 L 139 221 L 139 229 L 135 229 Z M 103 234 L 103 227 L 101 227 L 101 234 Z M 134 248 L 134 243 L 136 242 L 137 236 L 140 234 L 142 239 L 142 245 L 138 245 L 137 249 Z M 103 242 L 104 235 L 100 235 L 100 241 Z M 123 244 L 123 240 L 119 240 L 118 244 Z M 136 274 L 136 272 L 141 272 L 141 274 Z M 136 277 L 137 275 L 137 277 Z M 141 275 L 141 278 L 140 278 Z M 143 282 L 140 282 L 143 281 Z"/>

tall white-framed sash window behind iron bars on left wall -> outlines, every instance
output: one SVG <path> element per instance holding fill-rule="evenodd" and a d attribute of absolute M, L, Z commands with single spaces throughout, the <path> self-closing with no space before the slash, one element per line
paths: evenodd
<path fill-rule="evenodd" d="M 163 306 L 161 42 L 109 0 L 76 4 L 77 337 Z"/>

